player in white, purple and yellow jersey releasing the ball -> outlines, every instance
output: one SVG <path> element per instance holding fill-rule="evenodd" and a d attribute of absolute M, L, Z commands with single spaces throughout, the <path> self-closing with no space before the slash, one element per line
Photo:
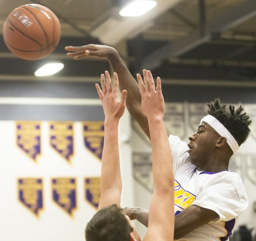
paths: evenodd
<path fill-rule="evenodd" d="M 141 108 L 139 86 L 117 51 L 105 45 L 66 47 L 68 56 L 107 58 L 118 73 L 120 89 L 128 92 L 126 107 L 150 138 L 148 119 Z M 146 75 L 146 70 L 143 75 Z M 189 136 L 190 144 L 169 136 L 175 171 L 174 239 L 228 240 L 235 220 L 248 205 L 240 177 L 228 171 L 230 157 L 246 140 L 251 121 L 242 107 L 226 108 L 216 100 L 209 105 L 209 115 L 202 119 L 198 131 Z M 126 209 L 130 218 L 148 225 L 148 211 Z"/>

